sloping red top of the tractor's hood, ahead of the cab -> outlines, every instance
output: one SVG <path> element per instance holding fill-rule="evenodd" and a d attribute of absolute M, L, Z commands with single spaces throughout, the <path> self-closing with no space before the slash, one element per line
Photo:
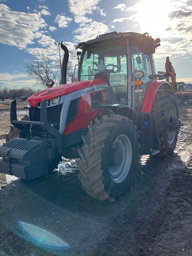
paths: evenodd
<path fill-rule="evenodd" d="M 31 104 L 32 107 L 36 107 L 37 104 L 44 99 L 50 100 L 52 98 L 57 98 L 63 95 L 70 94 L 71 92 L 79 91 L 85 89 L 87 87 L 92 87 L 95 85 L 108 85 L 106 80 L 103 79 L 95 79 L 88 81 L 79 81 L 73 82 L 71 84 L 63 84 L 54 87 L 50 87 L 46 90 L 39 91 L 36 94 L 30 96 L 27 101 Z"/>

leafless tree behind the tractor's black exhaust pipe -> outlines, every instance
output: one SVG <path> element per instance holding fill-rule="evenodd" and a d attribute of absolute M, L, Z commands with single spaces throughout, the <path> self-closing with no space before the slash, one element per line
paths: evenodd
<path fill-rule="evenodd" d="M 37 85 L 46 86 L 46 81 L 52 79 L 56 85 L 61 84 L 60 61 L 53 61 L 48 57 L 42 57 L 41 60 L 26 64 L 27 73 L 37 81 Z M 73 74 L 72 64 L 68 63 L 67 80 L 71 79 Z"/>

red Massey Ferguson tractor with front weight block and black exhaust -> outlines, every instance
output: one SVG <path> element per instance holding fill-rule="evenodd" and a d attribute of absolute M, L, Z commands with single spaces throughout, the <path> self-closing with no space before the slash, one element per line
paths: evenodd
<path fill-rule="evenodd" d="M 22 138 L 0 147 L 0 171 L 32 180 L 57 167 L 61 156 L 79 158 L 88 194 L 101 201 L 126 194 L 140 155 L 172 154 L 181 126 L 175 94 L 163 80 L 169 74 L 155 74 L 159 42 L 148 33 L 112 32 L 79 43 L 71 84 L 69 52 L 61 43 L 62 85 L 48 80 L 46 90 L 28 98 L 29 121 L 17 120 L 12 102 L 11 124 Z"/>

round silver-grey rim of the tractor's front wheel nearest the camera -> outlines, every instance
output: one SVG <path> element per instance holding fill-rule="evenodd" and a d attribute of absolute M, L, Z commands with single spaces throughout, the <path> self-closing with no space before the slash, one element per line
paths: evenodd
<path fill-rule="evenodd" d="M 120 156 L 121 161 L 117 158 L 117 155 Z M 128 175 L 132 162 L 132 146 L 129 138 L 126 135 L 119 135 L 113 142 L 111 152 L 110 152 L 110 162 L 109 162 L 109 171 L 111 179 L 115 183 L 121 183 Z M 119 157 L 118 157 L 119 158 Z M 114 166 L 114 159 L 118 166 Z"/>

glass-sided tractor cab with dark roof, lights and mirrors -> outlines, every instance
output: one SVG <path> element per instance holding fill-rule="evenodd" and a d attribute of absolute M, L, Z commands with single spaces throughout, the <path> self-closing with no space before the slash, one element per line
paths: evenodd
<path fill-rule="evenodd" d="M 141 107 L 148 82 L 154 78 L 153 53 L 158 43 L 146 33 L 107 33 L 79 43 L 78 81 L 104 79 L 116 102 Z"/>

